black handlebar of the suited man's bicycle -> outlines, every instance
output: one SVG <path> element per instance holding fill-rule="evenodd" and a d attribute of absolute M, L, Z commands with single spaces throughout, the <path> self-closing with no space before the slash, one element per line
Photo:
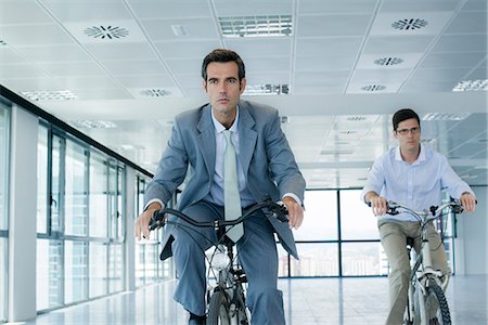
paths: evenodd
<path fill-rule="evenodd" d="M 243 222 L 246 218 L 248 218 L 251 214 L 253 214 L 255 211 L 267 208 L 271 214 L 280 220 L 281 222 L 288 221 L 288 218 L 286 217 L 288 214 L 288 211 L 286 210 L 286 207 L 283 203 L 275 203 L 271 199 L 266 199 L 261 203 L 253 205 L 244 214 L 234 220 L 215 220 L 215 221 L 196 221 L 192 219 L 191 217 L 184 214 L 183 212 L 171 209 L 171 208 L 164 208 L 160 210 L 156 210 L 153 213 L 153 217 L 151 218 L 149 229 L 150 231 L 153 231 L 155 229 L 158 229 L 167 223 L 168 214 L 172 214 L 175 217 L 181 218 L 182 220 L 187 221 L 188 223 L 194 225 L 194 226 L 214 226 L 214 227 L 220 227 L 226 225 L 235 225 L 237 223 Z"/>

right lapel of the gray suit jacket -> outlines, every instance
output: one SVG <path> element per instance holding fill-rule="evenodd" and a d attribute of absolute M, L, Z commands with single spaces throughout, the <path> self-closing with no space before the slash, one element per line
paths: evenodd
<path fill-rule="evenodd" d="M 256 146 L 257 132 L 254 130 L 255 121 L 247 108 L 248 103 L 239 103 L 239 146 L 241 148 L 240 160 L 244 174 L 247 178 L 251 159 Z"/>

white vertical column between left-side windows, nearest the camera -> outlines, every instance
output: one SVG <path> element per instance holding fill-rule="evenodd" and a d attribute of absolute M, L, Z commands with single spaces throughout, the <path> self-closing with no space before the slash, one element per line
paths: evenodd
<path fill-rule="evenodd" d="M 38 118 L 12 109 L 9 205 L 9 321 L 36 317 Z"/>

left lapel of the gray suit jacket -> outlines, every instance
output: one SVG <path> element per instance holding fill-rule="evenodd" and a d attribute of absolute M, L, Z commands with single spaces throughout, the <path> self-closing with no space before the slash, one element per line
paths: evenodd
<path fill-rule="evenodd" d="M 196 129 L 200 131 L 196 141 L 211 179 L 215 173 L 215 127 L 211 122 L 210 105 L 206 105 L 202 109 L 200 121 L 196 125 Z"/>

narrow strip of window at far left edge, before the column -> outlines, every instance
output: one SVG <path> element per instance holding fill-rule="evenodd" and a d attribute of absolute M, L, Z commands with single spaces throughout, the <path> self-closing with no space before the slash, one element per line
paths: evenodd
<path fill-rule="evenodd" d="M 0 103 L 0 322 L 7 321 L 8 297 L 8 184 L 10 115 Z"/>

